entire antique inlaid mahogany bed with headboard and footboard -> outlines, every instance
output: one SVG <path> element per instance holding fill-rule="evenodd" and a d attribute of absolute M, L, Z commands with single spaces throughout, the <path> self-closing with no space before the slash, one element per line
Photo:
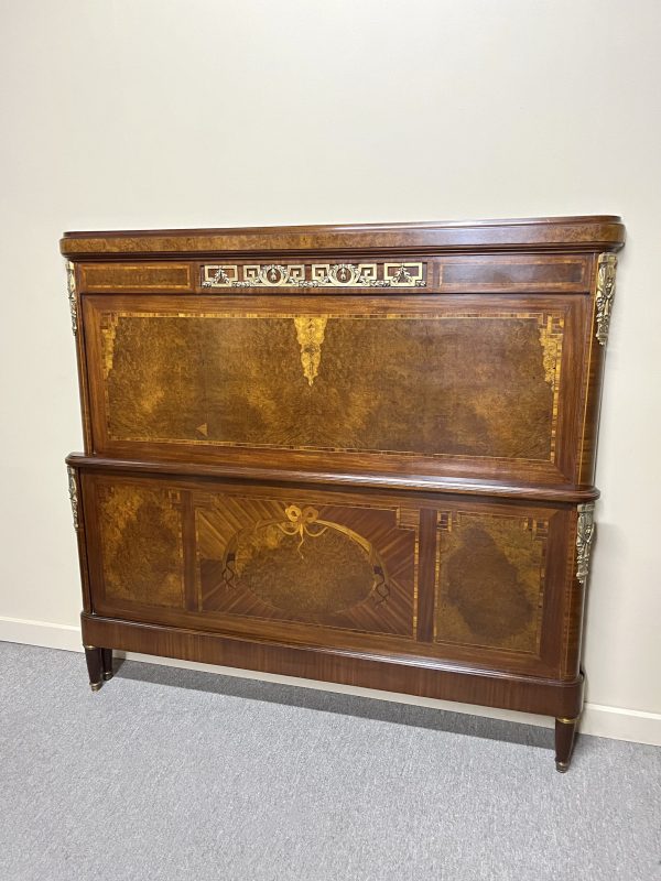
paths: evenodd
<path fill-rule="evenodd" d="M 546 714 L 566 770 L 624 238 L 66 233 L 93 687 L 117 649 Z"/>

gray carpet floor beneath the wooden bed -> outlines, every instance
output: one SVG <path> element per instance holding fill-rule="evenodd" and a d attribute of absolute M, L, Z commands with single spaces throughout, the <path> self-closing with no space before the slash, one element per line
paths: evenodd
<path fill-rule="evenodd" d="M 0 642 L 2 881 L 652 881 L 661 750 Z"/>

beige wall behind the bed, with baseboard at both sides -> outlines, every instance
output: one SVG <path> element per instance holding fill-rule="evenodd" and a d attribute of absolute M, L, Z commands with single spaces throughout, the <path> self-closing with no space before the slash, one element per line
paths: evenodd
<path fill-rule="evenodd" d="M 4 0 L 0 17 L 0 638 L 78 642 L 64 229 L 619 213 L 588 724 L 659 740 L 658 0 Z"/>

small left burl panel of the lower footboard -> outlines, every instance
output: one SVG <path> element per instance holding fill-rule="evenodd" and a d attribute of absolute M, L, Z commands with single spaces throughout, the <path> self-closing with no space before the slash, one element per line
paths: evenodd
<path fill-rule="evenodd" d="M 96 497 L 105 597 L 183 608 L 184 555 L 176 490 L 145 482 L 104 481 L 96 487 Z"/>

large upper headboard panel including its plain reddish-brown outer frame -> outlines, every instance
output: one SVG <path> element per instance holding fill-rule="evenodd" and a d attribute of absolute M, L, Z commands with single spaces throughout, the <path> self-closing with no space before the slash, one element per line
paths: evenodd
<path fill-rule="evenodd" d="M 248 314 L 237 296 L 88 296 L 94 452 L 210 464 L 223 446 L 239 467 L 562 485 L 578 468 L 586 311 L 576 296 L 281 294 Z M 301 314 L 325 322 L 312 381 Z"/>

